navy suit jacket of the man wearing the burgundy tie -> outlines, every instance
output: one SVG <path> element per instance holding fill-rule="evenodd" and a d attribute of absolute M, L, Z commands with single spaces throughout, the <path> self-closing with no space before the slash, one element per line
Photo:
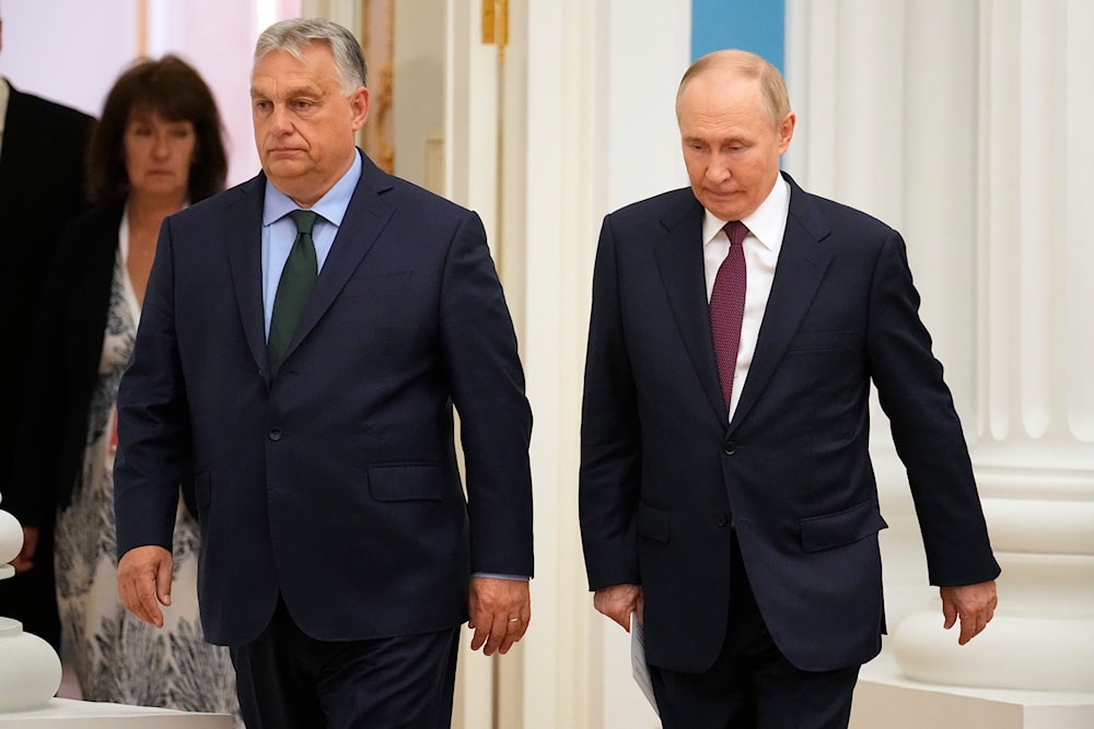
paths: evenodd
<path fill-rule="evenodd" d="M 961 424 L 918 316 L 905 245 L 790 181 L 755 357 L 726 423 L 703 210 L 689 189 L 608 215 L 593 284 L 581 529 L 592 589 L 641 584 L 647 657 L 710 668 L 735 530 L 757 603 L 805 670 L 862 663 L 884 632 L 868 454 L 871 381 L 911 484 L 931 581 L 999 573 Z"/>

